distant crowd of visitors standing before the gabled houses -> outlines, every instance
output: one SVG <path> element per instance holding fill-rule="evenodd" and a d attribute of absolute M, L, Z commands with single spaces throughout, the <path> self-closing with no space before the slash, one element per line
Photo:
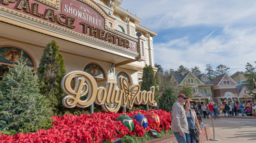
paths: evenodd
<path fill-rule="evenodd" d="M 232 102 L 230 103 L 223 103 L 223 104 L 216 104 L 216 103 L 209 103 L 209 104 L 195 104 L 195 109 L 196 112 L 200 113 L 200 115 L 204 118 L 204 119 L 209 119 L 209 116 L 211 117 L 213 116 L 219 116 L 219 115 L 223 115 L 226 117 L 226 114 L 228 117 L 234 117 L 234 116 L 239 116 L 239 113 L 242 114 L 242 116 L 253 116 L 253 114 L 255 114 L 255 109 L 256 109 L 256 105 L 254 106 L 254 104 L 251 103 L 240 103 L 240 104 L 233 104 Z M 221 113 L 222 112 L 222 113 Z M 214 118 L 216 119 L 216 118 Z M 220 118 L 218 118 L 220 119 Z"/>

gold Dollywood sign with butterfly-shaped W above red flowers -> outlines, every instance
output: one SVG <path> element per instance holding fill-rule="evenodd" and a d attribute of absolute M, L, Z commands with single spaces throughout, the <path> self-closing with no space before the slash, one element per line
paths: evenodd
<path fill-rule="evenodd" d="M 75 87 L 71 87 L 72 80 L 75 79 Z M 118 86 L 118 88 L 116 88 Z M 101 105 L 106 112 L 117 112 L 120 106 L 131 109 L 133 103 L 156 106 L 154 101 L 155 87 L 150 87 L 150 91 L 140 91 L 139 85 L 129 87 L 123 76 L 117 77 L 117 82 L 109 81 L 105 87 L 97 87 L 95 79 L 83 71 L 72 71 L 66 74 L 61 81 L 62 90 L 68 94 L 62 99 L 65 107 L 72 108 L 88 107 L 92 103 Z M 86 96 L 85 100 L 80 97 Z M 108 106 L 111 105 L 112 106 Z"/>

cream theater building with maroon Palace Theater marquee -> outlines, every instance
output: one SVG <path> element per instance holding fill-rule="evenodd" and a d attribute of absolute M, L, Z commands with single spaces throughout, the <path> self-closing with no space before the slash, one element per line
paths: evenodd
<path fill-rule="evenodd" d="M 154 67 L 153 37 L 141 19 L 120 8 L 122 0 L 1 0 L 0 72 L 21 53 L 38 68 L 46 45 L 55 40 L 66 72 L 85 71 L 106 86 L 124 76 L 139 84 L 145 65 Z M 138 34 L 137 34 L 138 33 Z M 141 36 L 140 36 L 141 35 Z M 112 70 L 113 69 L 113 70 Z"/>

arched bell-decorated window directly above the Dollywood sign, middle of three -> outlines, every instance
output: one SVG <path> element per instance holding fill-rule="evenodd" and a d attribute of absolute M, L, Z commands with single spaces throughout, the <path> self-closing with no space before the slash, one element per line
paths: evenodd
<path fill-rule="evenodd" d="M 87 72 L 96 78 L 108 78 L 105 66 L 96 60 L 86 62 L 82 67 L 82 71 Z"/>

